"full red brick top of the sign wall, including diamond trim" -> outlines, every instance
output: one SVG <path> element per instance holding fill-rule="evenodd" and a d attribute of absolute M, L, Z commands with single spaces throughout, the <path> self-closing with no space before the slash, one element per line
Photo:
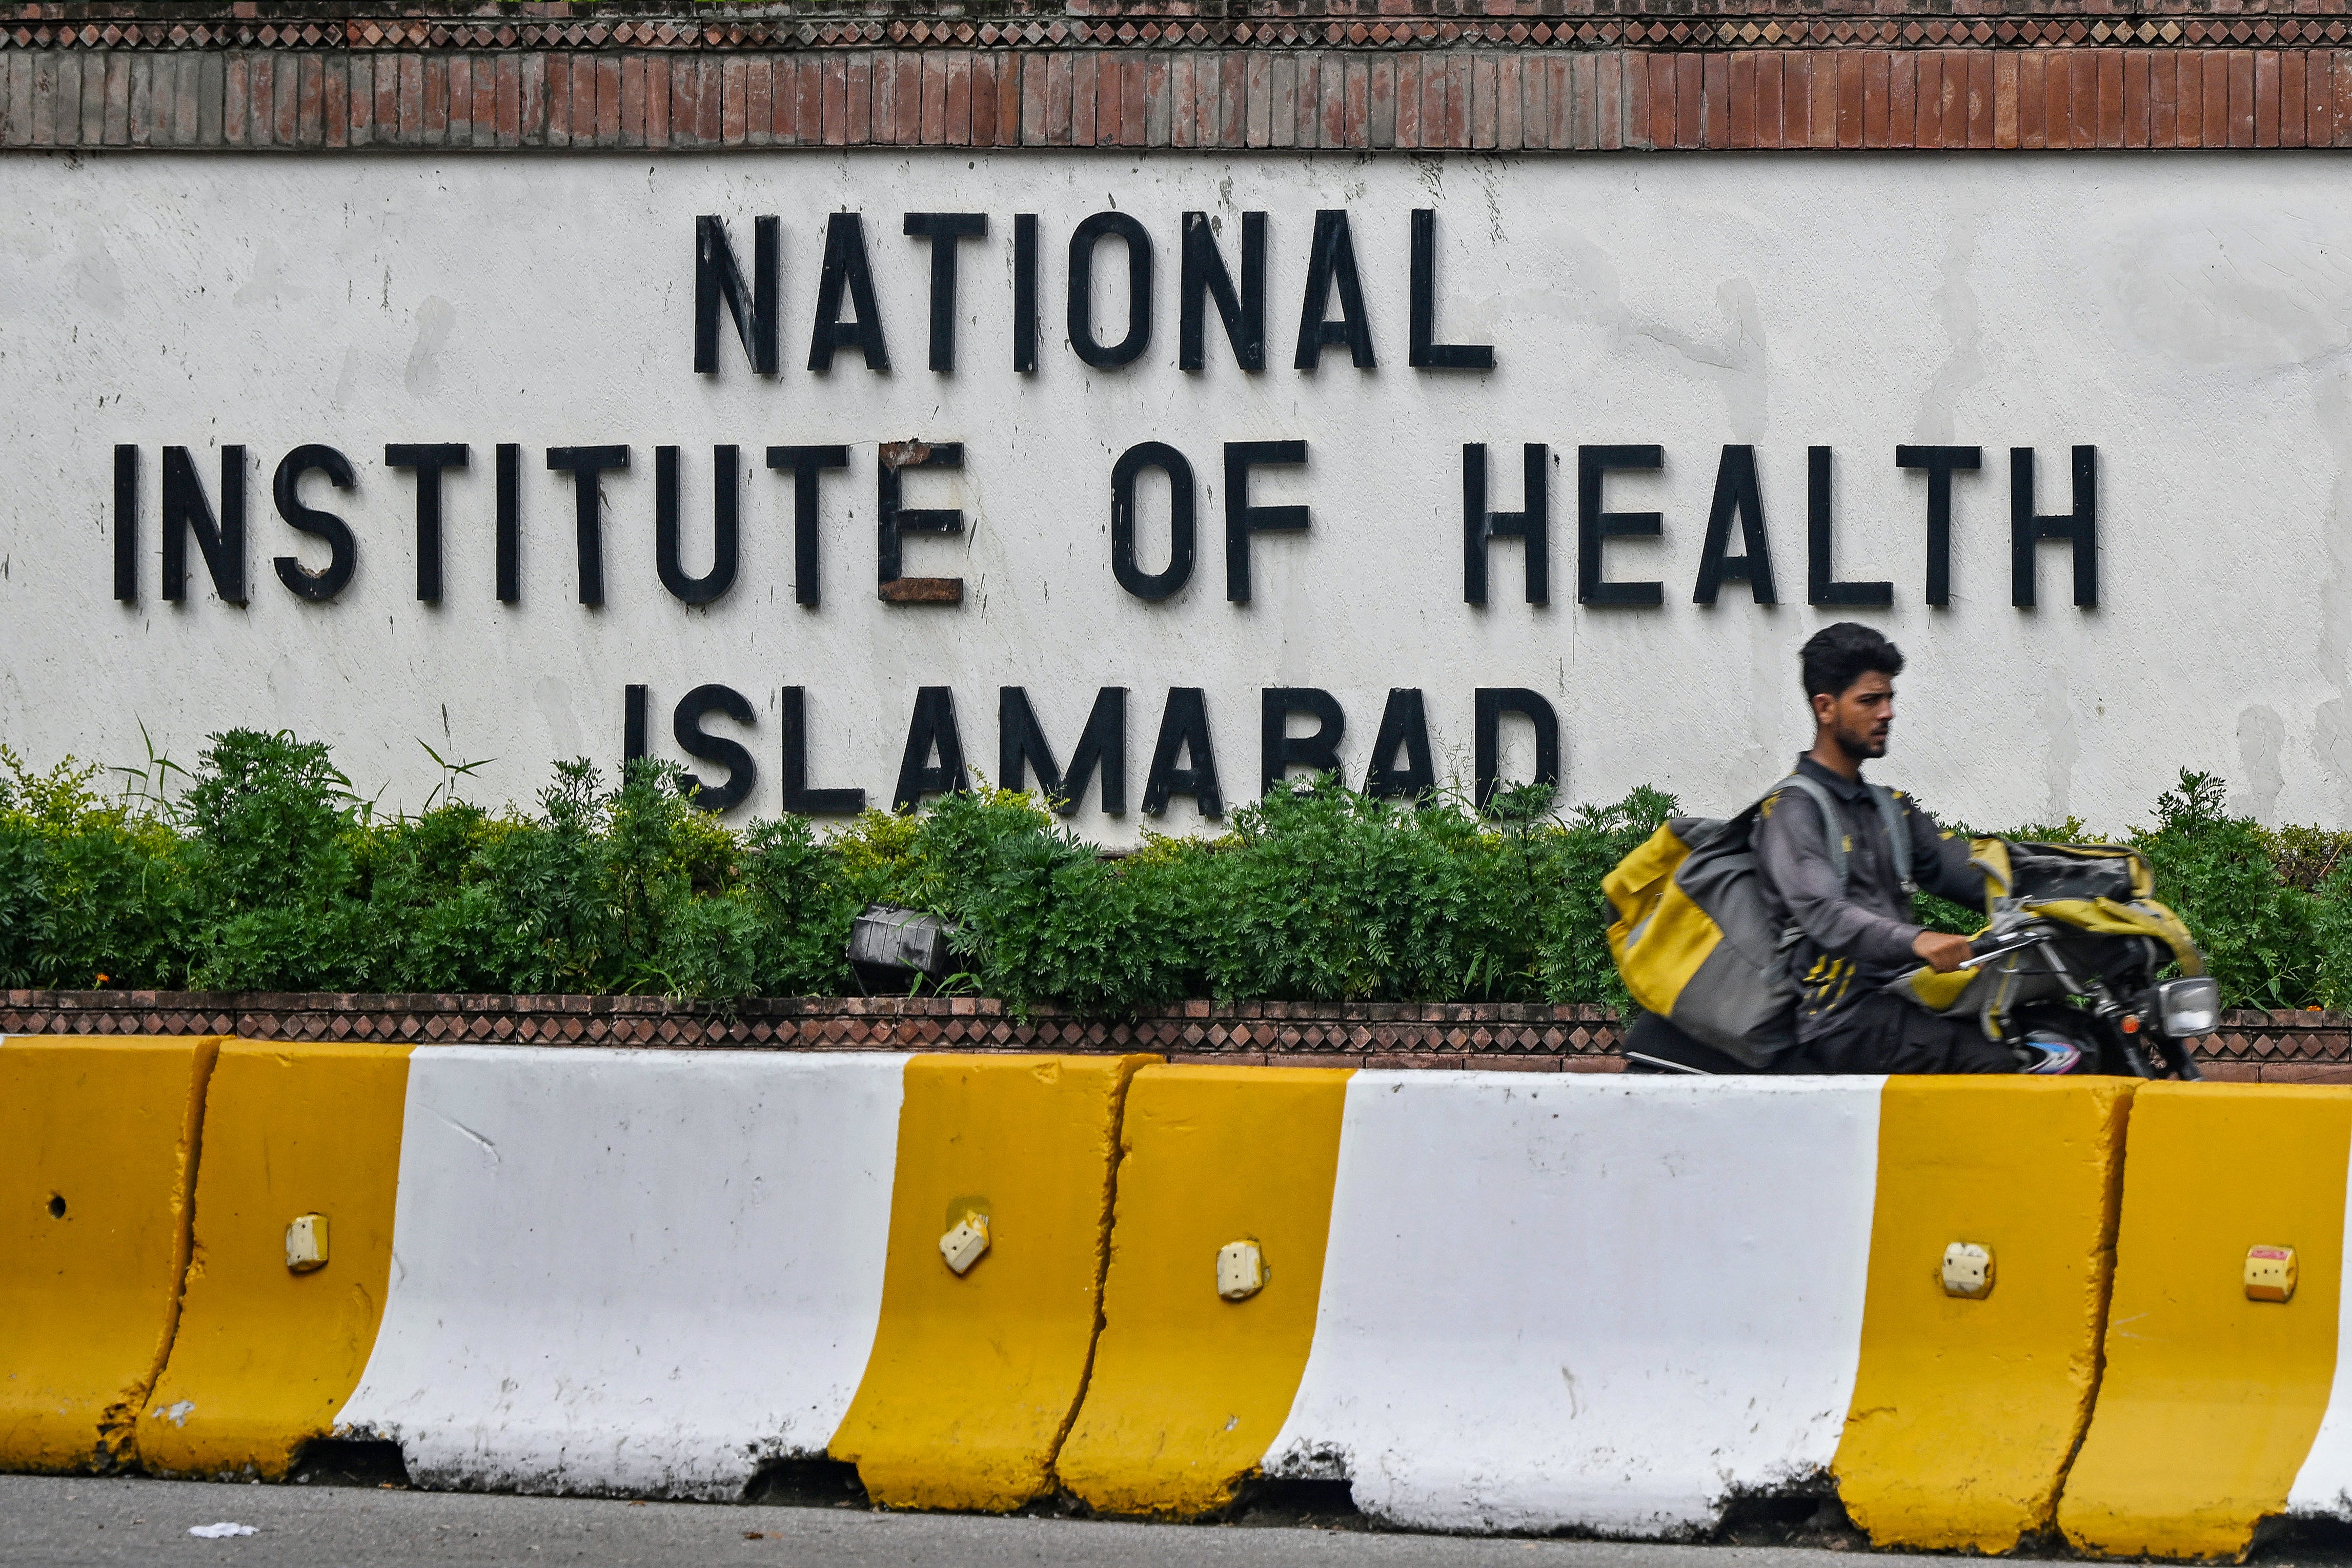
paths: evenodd
<path fill-rule="evenodd" d="M 87 0 L 0 21 L 0 148 L 2352 146 L 2303 7 Z"/>

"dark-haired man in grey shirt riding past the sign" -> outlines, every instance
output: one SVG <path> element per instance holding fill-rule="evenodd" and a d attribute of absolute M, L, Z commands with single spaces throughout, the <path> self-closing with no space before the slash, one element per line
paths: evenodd
<path fill-rule="evenodd" d="M 2070 1072 L 2079 1060 L 2070 1044 L 2034 1041 L 2020 1063 L 1976 1020 L 1884 990 L 1919 964 L 1952 973 L 1971 957 L 1969 938 L 1912 919 L 1915 884 L 1983 907 L 1985 872 L 1971 865 L 1969 844 L 1917 802 L 1863 780 L 1863 762 L 1886 755 L 1900 649 L 1867 625 L 1839 621 L 1816 632 L 1799 658 L 1813 745 L 1757 806 L 1752 830 L 1764 903 L 1792 933 L 1797 1048 L 1783 1070 Z M 1825 823 L 1825 811 L 1837 820 Z M 1891 832 L 1907 839 L 1900 851 Z M 1915 882 L 1903 877 L 1905 863 Z"/>

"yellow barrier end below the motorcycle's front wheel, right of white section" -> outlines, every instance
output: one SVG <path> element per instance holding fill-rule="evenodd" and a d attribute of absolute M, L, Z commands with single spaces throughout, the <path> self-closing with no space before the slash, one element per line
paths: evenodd
<path fill-rule="evenodd" d="M 1889 1079 L 1837 1490 L 1879 1547 L 2044 1530 L 2091 1418 L 2124 1173 L 2124 1079 Z M 1992 1291 L 1943 1253 L 1992 1253 Z"/>

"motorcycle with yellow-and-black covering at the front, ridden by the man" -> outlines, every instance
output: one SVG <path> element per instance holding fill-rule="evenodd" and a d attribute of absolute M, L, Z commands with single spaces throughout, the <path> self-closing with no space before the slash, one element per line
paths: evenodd
<path fill-rule="evenodd" d="M 2220 1023 L 2220 987 L 2187 926 L 2154 898 L 2147 860 L 2114 844 L 1976 839 L 1985 929 L 1952 973 L 1915 969 L 1886 990 L 1950 1018 L 1973 1018 L 2018 1053 L 2074 1046 L 2074 1072 L 2190 1079 L 2190 1041 Z M 2166 969 L 2178 969 L 2166 978 Z M 1625 1032 L 1635 1072 L 1759 1072 L 1656 1013 Z M 1771 1072 L 1764 1067 L 1762 1072 Z"/>

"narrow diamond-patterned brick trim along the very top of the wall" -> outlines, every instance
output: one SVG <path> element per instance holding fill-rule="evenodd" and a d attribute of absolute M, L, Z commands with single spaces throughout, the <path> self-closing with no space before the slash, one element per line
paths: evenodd
<path fill-rule="evenodd" d="M 2340 0 L 35 0 L 0 49 L 2321 47 Z"/>

